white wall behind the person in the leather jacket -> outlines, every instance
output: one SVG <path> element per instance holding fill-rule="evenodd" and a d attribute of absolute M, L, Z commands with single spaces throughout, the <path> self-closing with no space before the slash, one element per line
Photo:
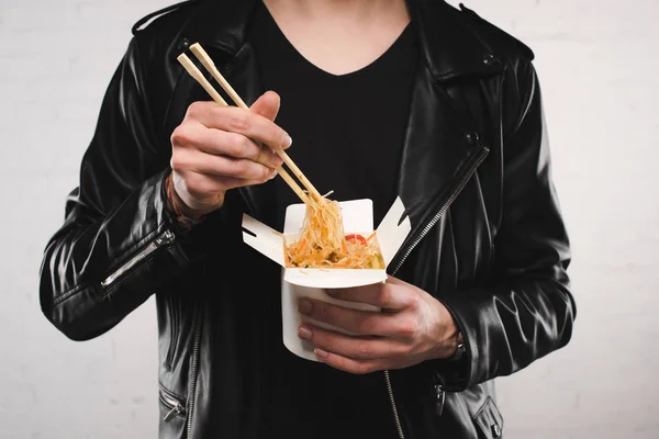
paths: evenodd
<path fill-rule="evenodd" d="M 130 27 L 170 3 L 0 0 L 0 438 L 157 435 L 153 301 L 76 344 L 41 315 L 37 272 Z M 657 438 L 659 3 L 467 5 L 536 53 L 574 251 L 573 340 L 500 380 L 506 438 Z"/>

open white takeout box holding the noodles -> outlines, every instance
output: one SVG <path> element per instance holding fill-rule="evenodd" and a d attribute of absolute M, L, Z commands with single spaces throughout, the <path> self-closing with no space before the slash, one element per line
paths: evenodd
<path fill-rule="evenodd" d="M 371 200 L 351 200 L 338 204 L 346 234 L 359 234 L 365 238 L 372 234 L 373 207 Z M 376 238 L 386 267 L 389 266 L 412 228 L 407 216 L 402 219 L 404 212 L 403 202 L 398 198 L 376 229 Z M 380 312 L 380 308 L 369 304 L 335 300 L 325 293 L 325 289 L 362 286 L 384 282 L 387 269 L 287 268 L 284 245 L 298 239 L 305 213 L 306 207 L 303 203 L 289 205 L 286 211 L 283 233 L 276 232 L 244 214 L 243 240 L 282 267 L 281 314 L 284 346 L 299 357 L 317 361 L 313 353 L 313 346 L 298 337 L 298 327 L 302 322 L 345 334 L 349 333 L 301 315 L 298 312 L 300 299 L 309 297 L 349 308 Z"/>

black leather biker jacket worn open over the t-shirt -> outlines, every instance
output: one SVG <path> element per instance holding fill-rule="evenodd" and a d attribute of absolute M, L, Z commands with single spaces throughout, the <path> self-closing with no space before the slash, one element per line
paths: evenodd
<path fill-rule="evenodd" d="M 105 333 L 156 295 L 161 438 L 216 437 L 212 417 L 222 437 L 247 436 L 234 416 L 245 392 L 235 376 L 257 371 L 254 351 L 268 348 L 241 348 L 236 333 L 244 320 L 280 318 L 246 313 L 241 294 L 259 282 L 238 274 L 246 266 L 278 269 L 242 241 L 243 212 L 261 216 L 258 188 L 230 191 L 190 233 L 164 193 L 170 134 L 191 102 L 208 100 L 176 57 L 201 42 L 253 102 L 264 91 L 245 41 L 253 5 L 187 2 L 135 27 L 43 259 L 42 309 L 74 340 Z M 467 350 L 460 361 L 391 371 L 392 413 L 401 438 L 496 438 L 491 380 L 565 346 L 576 314 L 540 88 L 532 52 L 473 12 L 439 0 L 409 5 L 422 63 L 398 188 L 412 233 L 389 272 L 440 300 Z"/>

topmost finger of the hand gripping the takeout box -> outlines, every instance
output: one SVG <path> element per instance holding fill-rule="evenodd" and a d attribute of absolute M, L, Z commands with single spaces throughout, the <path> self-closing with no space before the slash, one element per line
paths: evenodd
<path fill-rule="evenodd" d="M 332 297 L 340 301 L 367 303 L 384 309 L 398 311 L 413 304 L 415 299 L 409 294 L 407 289 L 399 288 L 399 282 L 402 281 L 390 282 L 388 280 L 387 283 L 325 291 Z"/>

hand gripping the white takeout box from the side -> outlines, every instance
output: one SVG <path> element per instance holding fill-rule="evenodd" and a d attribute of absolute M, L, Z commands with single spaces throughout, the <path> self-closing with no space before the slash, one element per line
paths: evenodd
<path fill-rule="evenodd" d="M 309 317 L 356 334 L 344 335 L 304 323 L 298 336 L 315 347 L 324 363 L 350 373 L 403 369 L 429 359 L 449 358 L 457 328 L 448 309 L 425 291 L 389 277 L 372 285 L 326 290 L 332 297 L 375 305 L 381 313 L 357 311 L 303 299 Z"/>

